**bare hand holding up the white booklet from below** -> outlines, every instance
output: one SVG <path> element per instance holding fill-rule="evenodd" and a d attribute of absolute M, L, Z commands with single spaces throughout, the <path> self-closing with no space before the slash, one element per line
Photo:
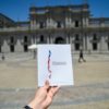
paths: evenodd
<path fill-rule="evenodd" d="M 59 87 L 49 86 L 49 82 L 45 82 L 45 86 L 40 87 L 35 95 L 35 98 L 29 102 L 33 109 L 47 109 L 53 99 L 53 96 L 59 90 Z"/>

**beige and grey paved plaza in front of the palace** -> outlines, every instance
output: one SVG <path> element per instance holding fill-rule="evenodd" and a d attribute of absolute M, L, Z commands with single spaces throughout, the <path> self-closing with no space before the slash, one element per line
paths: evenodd
<path fill-rule="evenodd" d="M 1 58 L 1 56 L 0 56 Z M 109 109 L 109 55 L 73 56 L 74 86 L 61 87 L 49 109 Z M 33 53 L 9 53 L 0 59 L 0 109 L 22 109 L 37 88 Z"/>

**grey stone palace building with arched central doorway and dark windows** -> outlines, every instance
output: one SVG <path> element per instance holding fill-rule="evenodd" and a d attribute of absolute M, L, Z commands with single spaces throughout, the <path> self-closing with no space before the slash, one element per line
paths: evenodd
<path fill-rule="evenodd" d="M 71 44 L 74 53 L 109 53 L 109 17 L 94 17 L 88 3 L 31 7 L 25 22 L 0 13 L 0 52 L 27 52 L 32 44 Z"/>

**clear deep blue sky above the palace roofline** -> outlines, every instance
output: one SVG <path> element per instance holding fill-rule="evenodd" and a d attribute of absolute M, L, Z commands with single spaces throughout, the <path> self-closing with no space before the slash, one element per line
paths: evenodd
<path fill-rule="evenodd" d="M 94 17 L 109 17 L 109 0 L 0 0 L 0 13 L 14 21 L 27 21 L 29 7 L 81 4 L 87 1 Z"/>

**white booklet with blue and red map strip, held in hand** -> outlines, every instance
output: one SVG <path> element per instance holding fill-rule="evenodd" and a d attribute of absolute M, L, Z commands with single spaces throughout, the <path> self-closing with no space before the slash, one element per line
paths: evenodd
<path fill-rule="evenodd" d="M 38 86 L 74 85 L 70 45 L 38 45 Z"/>

